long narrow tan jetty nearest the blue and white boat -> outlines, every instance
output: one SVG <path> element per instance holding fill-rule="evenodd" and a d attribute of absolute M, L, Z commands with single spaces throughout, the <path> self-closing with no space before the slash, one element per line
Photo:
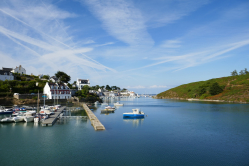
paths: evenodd
<path fill-rule="evenodd" d="M 94 115 L 94 113 L 88 108 L 88 106 L 84 103 L 83 107 L 86 111 L 88 118 L 91 121 L 91 124 L 95 130 L 105 130 L 104 125 L 98 120 L 98 118 Z"/>

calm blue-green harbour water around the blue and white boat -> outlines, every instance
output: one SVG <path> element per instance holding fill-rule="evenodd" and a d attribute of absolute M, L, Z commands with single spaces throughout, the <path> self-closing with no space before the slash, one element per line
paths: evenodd
<path fill-rule="evenodd" d="M 0 124 L 0 165 L 249 165 L 249 105 L 121 99 L 89 120 Z M 123 119 L 141 108 L 144 119 Z M 84 112 L 72 113 L 84 115 Z M 0 117 L 1 118 L 1 117 Z"/>

